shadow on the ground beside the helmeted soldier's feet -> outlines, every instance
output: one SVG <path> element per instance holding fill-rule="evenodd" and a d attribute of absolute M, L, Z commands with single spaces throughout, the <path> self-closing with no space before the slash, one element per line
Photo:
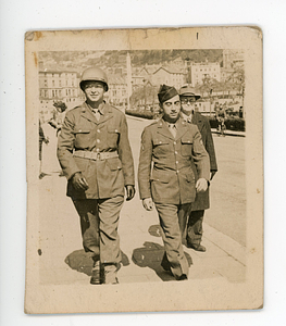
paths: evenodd
<path fill-rule="evenodd" d="M 121 251 L 121 254 L 122 254 L 122 265 L 128 266 L 130 264 L 129 259 L 123 251 Z M 94 261 L 90 252 L 85 252 L 84 249 L 75 250 L 65 258 L 64 262 L 72 269 L 91 276 Z"/>

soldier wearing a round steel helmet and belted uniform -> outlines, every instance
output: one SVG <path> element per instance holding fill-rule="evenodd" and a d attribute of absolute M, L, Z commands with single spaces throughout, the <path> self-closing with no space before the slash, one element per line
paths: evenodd
<path fill-rule="evenodd" d="M 135 195 L 134 163 L 125 114 L 105 103 L 107 74 L 84 71 L 86 101 L 66 113 L 58 159 L 67 178 L 67 196 L 80 217 L 83 244 L 91 252 L 91 284 L 116 284 L 121 264 L 120 212 Z M 124 191 L 125 188 L 125 191 Z"/>

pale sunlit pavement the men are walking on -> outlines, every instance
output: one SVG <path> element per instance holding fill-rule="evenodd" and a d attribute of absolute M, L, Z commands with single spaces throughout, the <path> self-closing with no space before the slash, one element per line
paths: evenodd
<path fill-rule="evenodd" d="M 136 175 L 140 135 L 150 121 L 128 117 L 129 138 Z M 40 281 L 41 284 L 87 284 L 92 261 L 82 249 L 79 220 L 71 199 L 65 196 L 66 179 L 59 177 L 55 159 L 55 131 L 43 126 L 50 143 L 43 145 L 40 192 Z M 211 185 L 211 209 L 206 212 L 202 244 L 207 252 L 184 248 L 189 263 L 189 280 L 221 278 L 244 281 L 246 273 L 246 197 L 243 137 L 214 135 L 219 173 Z M 49 158 L 49 160 L 47 160 Z M 138 189 L 138 187 L 137 187 Z M 163 243 L 156 211 L 146 212 L 136 197 L 125 202 L 120 222 L 123 266 L 121 284 L 174 280 L 160 262 Z"/>

